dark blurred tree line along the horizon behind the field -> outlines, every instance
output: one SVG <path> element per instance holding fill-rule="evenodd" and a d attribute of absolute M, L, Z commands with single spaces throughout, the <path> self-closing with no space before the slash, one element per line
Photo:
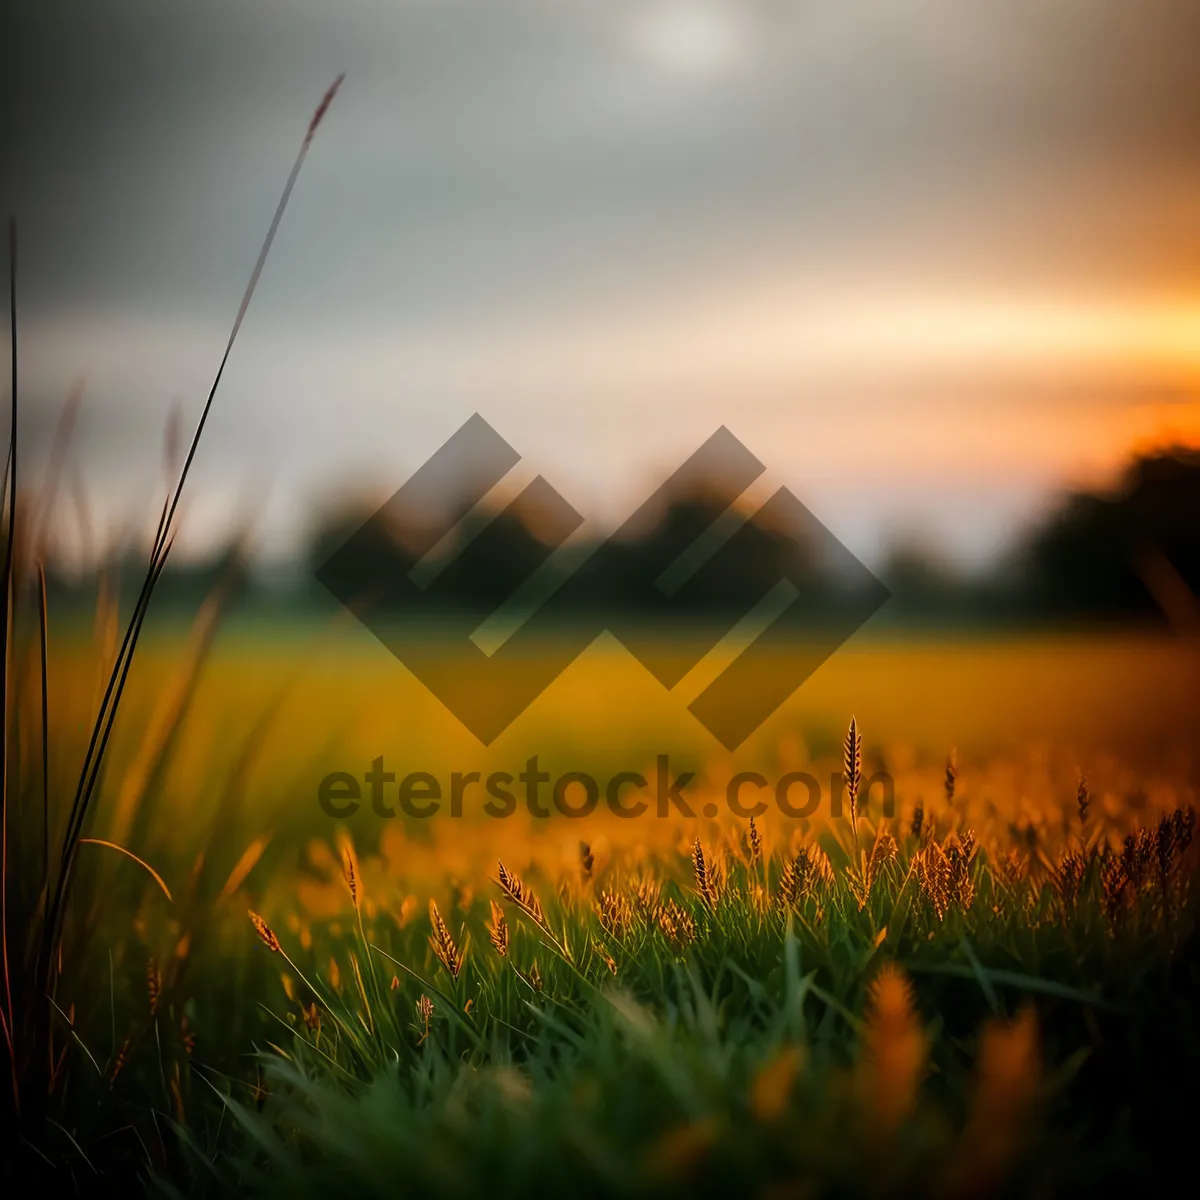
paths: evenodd
<path fill-rule="evenodd" d="M 194 610 L 217 588 L 236 588 L 235 607 L 323 608 L 332 604 L 313 572 L 378 509 L 373 500 L 349 500 L 317 515 L 308 539 L 305 569 L 286 588 L 269 587 L 246 570 L 241 544 L 230 545 L 209 562 L 172 566 L 155 596 L 157 611 Z M 671 497 L 636 536 L 606 547 L 606 572 L 592 572 L 588 596 L 602 610 L 614 605 L 637 610 L 658 566 L 672 562 L 721 516 L 724 505 L 703 492 Z M 757 536 L 734 536 L 702 572 L 703 586 L 679 590 L 682 611 L 744 612 L 745 595 L 766 593 L 782 576 L 800 580 L 814 611 L 836 605 L 856 586 L 828 570 L 817 541 L 806 544 L 794 530 L 750 518 Z M 386 571 L 392 551 L 412 529 L 378 523 L 372 558 Z M 432 605 L 478 607 L 494 599 L 497 581 L 521 580 L 550 548 L 530 523 L 512 512 L 473 514 L 456 544 L 444 547 L 454 560 L 452 589 L 430 587 Z M 565 548 L 564 576 L 595 547 Z M 125 595 L 139 581 L 136 553 L 115 564 Z M 648 570 L 648 564 L 654 570 Z M 85 602 L 95 580 L 68 580 L 47 568 L 52 602 Z M 965 576 L 938 559 L 929 547 L 907 541 L 894 546 L 876 572 L 892 599 L 877 620 L 886 623 L 1063 623 L 1139 622 L 1198 628 L 1200 625 L 1200 450 L 1170 448 L 1141 455 L 1118 485 L 1106 492 L 1075 491 L 1063 496 L 1019 539 L 1015 548 L 985 574 Z M 700 577 L 700 576 L 697 576 Z M 637 581 L 630 586 L 630 581 Z M 434 581 L 436 582 L 436 581 Z M 695 582 L 695 581 L 694 581 Z"/>

